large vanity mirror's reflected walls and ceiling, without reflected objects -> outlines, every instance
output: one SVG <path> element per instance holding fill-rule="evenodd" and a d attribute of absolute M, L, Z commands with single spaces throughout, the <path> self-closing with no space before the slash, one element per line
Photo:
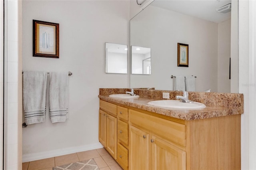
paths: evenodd
<path fill-rule="evenodd" d="M 174 90 L 171 75 L 194 75 L 196 91 L 230 93 L 230 39 L 238 39 L 237 34 L 231 37 L 231 12 L 238 15 L 238 10 L 216 11 L 230 3 L 231 0 L 154 0 L 132 18 L 130 45 L 151 48 L 152 73 L 130 74 L 130 87 Z M 189 45 L 188 67 L 177 66 L 177 43 Z"/>

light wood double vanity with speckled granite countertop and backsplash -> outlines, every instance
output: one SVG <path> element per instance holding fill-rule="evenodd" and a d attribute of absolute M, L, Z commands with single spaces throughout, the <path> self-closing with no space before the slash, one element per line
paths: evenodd
<path fill-rule="evenodd" d="M 124 169 L 240 169 L 243 95 L 189 92 L 204 109 L 168 109 L 147 103 L 180 91 L 100 89 L 99 141 Z"/>

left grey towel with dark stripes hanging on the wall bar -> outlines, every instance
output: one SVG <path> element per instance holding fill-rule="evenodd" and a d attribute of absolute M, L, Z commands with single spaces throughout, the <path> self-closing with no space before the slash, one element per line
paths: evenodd
<path fill-rule="evenodd" d="M 45 121 L 46 81 L 45 71 L 23 72 L 23 108 L 27 125 Z"/>

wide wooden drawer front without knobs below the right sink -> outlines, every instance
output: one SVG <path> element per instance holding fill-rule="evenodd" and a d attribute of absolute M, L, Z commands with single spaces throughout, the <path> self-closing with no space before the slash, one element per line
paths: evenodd
<path fill-rule="evenodd" d="M 134 110 L 129 110 L 129 121 L 182 146 L 186 146 L 185 125 Z"/>

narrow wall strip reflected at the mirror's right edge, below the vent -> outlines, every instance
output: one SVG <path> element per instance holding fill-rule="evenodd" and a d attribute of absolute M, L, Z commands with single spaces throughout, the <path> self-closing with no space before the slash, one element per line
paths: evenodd
<path fill-rule="evenodd" d="M 231 20 L 218 24 L 218 92 L 230 93 L 229 61 Z"/>

